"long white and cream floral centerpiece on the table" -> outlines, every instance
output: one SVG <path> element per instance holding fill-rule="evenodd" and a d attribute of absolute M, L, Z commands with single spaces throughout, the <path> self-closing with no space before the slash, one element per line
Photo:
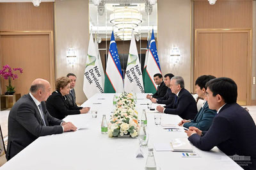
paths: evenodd
<path fill-rule="evenodd" d="M 116 109 L 108 125 L 108 136 L 131 135 L 131 137 L 136 137 L 139 130 L 138 112 L 135 109 L 133 96 L 131 93 L 122 93 L 118 97 Z"/>

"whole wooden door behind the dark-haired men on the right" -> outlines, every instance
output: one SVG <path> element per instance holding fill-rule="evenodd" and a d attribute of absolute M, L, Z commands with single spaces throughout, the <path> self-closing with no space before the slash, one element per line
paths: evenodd
<path fill-rule="evenodd" d="M 195 74 L 230 77 L 237 84 L 237 102 L 251 104 L 251 31 L 197 30 L 195 36 Z"/>

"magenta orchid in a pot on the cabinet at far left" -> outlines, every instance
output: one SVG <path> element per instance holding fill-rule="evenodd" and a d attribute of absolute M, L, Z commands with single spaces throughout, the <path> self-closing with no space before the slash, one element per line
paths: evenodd
<path fill-rule="evenodd" d="M 12 80 L 17 79 L 18 75 L 15 73 L 12 73 L 12 70 L 13 71 L 19 70 L 20 73 L 23 72 L 22 68 L 13 68 L 12 69 L 9 65 L 3 66 L 3 69 L 0 70 L 0 75 L 2 77 L 4 77 L 4 79 L 6 79 L 6 80 L 8 79 L 8 82 L 9 82 L 9 85 L 6 86 L 7 91 L 6 91 L 5 95 L 13 95 L 13 93 L 15 93 L 15 90 L 14 90 L 15 87 L 12 86 Z"/>

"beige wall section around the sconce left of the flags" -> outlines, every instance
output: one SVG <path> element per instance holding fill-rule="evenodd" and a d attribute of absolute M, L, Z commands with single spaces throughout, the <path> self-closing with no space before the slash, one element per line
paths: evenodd
<path fill-rule="evenodd" d="M 56 79 L 72 72 L 77 76 L 76 102 L 83 103 L 83 73 L 89 40 L 88 0 L 56 0 L 55 3 L 55 48 Z M 77 54 L 77 63 L 67 63 L 67 50 L 73 47 Z"/>

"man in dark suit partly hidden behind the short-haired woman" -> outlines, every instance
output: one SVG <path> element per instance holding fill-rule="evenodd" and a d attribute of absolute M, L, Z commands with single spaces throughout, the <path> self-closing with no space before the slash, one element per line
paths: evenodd
<path fill-rule="evenodd" d="M 76 92 L 74 89 L 74 87 L 76 86 L 76 75 L 74 73 L 68 73 L 67 77 L 70 79 L 70 91 L 68 95 L 65 96 L 67 98 L 65 102 L 67 103 L 69 109 L 83 109 L 83 107 L 78 107 L 76 104 Z"/>

